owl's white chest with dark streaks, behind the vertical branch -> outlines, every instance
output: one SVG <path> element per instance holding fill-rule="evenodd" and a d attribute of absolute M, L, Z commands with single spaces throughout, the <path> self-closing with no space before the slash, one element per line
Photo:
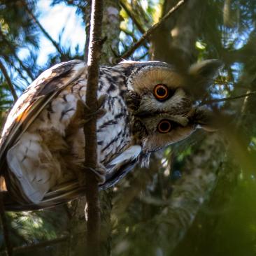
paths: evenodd
<path fill-rule="evenodd" d="M 97 94 L 98 99 L 103 95 L 106 97 L 101 106 L 106 113 L 97 120 L 98 161 L 103 164 L 110 162 L 131 143 L 129 111 L 125 99 L 122 97 L 122 90 L 125 88 L 118 86 L 120 78 L 118 76 L 114 79 L 114 75 L 113 72 L 109 76 L 107 72 L 101 75 Z M 85 102 L 85 80 L 73 85 L 71 89 L 76 99 Z"/>

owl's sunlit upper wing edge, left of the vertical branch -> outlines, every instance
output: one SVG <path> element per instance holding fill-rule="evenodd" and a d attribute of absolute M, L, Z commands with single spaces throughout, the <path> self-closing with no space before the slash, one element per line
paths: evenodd
<path fill-rule="evenodd" d="M 5 155 L 13 143 L 27 130 L 49 101 L 66 85 L 79 78 L 86 68 L 85 62 L 62 62 L 41 73 L 10 111 L 0 138 L 0 173 Z"/>

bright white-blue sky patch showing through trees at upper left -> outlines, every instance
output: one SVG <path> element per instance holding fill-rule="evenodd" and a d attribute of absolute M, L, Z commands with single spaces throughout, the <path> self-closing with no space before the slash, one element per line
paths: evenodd
<path fill-rule="evenodd" d="M 64 3 L 50 6 L 50 3 L 50 0 L 39 0 L 36 7 L 39 13 L 38 20 L 43 28 L 57 43 L 60 43 L 62 48 L 70 47 L 71 54 L 76 54 L 77 45 L 78 51 L 83 52 L 85 25 L 82 17 L 76 14 L 76 8 L 66 6 Z M 43 66 L 47 62 L 48 55 L 54 52 L 56 52 L 55 47 L 41 33 L 37 64 Z M 29 50 L 22 48 L 18 55 L 24 59 L 29 56 Z"/>

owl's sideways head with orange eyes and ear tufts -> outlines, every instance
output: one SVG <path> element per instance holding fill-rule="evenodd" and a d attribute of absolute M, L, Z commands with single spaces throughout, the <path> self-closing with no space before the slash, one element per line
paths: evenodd
<path fill-rule="evenodd" d="M 134 143 L 143 152 L 159 150 L 189 136 L 195 129 L 211 129 L 211 111 L 194 105 L 203 97 L 220 69 L 218 60 L 194 64 L 188 71 L 163 62 L 122 62 L 127 72 L 127 105 Z"/>

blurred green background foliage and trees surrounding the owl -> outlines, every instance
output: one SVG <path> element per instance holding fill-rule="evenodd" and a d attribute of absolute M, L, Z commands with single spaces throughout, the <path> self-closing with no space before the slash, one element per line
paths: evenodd
<path fill-rule="evenodd" d="M 43 28 L 38 19 L 40 1 L 49 1 L 52 7 L 62 4 L 76 8 L 79 26 L 88 31 L 90 1 L 0 1 L 1 127 L 13 104 L 8 79 L 21 94 L 53 64 L 86 59 L 86 50 L 80 51 L 78 46 L 71 50 L 64 44 L 64 30 L 55 40 Z M 115 13 L 110 8 L 118 10 L 120 31 L 116 30 L 119 36 L 113 37 L 114 24 L 106 22 L 104 57 L 108 58 L 103 63 L 115 63 L 177 2 L 106 1 L 110 17 Z M 38 64 L 42 37 L 52 43 L 55 52 Z M 111 213 L 104 215 L 103 222 L 110 223 L 111 231 L 106 232 L 109 237 L 102 255 L 110 255 L 110 251 L 122 256 L 256 255 L 255 39 L 256 1 L 188 0 L 134 51 L 130 59 L 157 59 L 184 67 L 202 59 L 221 59 L 223 69 L 199 102 L 248 93 L 250 97 L 208 104 L 215 111 L 232 113 L 234 120 L 216 134 L 198 131 L 155 154 L 149 169 L 137 167 L 105 194 L 102 211 Z M 24 51 L 26 55 L 21 55 Z M 106 207 L 107 199 L 110 209 Z M 70 239 L 77 223 L 85 222 L 83 215 L 81 218 L 77 214 L 78 208 L 73 201 L 47 211 L 8 213 L 15 255 L 83 255 L 73 253 Z M 73 221 L 74 217 L 78 222 Z M 0 255 L 5 255 L 4 248 L 1 234 Z"/>

